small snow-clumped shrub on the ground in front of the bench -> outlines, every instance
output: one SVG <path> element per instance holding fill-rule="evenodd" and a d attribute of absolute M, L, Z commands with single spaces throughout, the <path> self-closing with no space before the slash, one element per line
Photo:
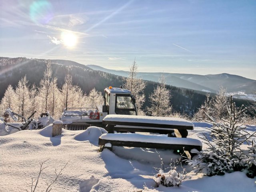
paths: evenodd
<path fill-rule="evenodd" d="M 157 152 L 158 153 L 158 152 Z M 160 158 L 160 154 L 158 153 L 158 156 Z M 188 179 L 188 175 L 186 172 L 186 169 L 182 167 L 181 159 L 180 157 L 176 161 L 172 161 L 169 164 L 168 168 L 164 168 L 164 163 L 161 159 L 161 168 L 155 168 L 157 170 L 157 174 L 155 175 L 154 181 L 156 182 L 157 187 L 162 184 L 166 187 L 173 187 L 173 186 L 180 186 L 182 182 L 186 179 Z M 177 168 L 180 165 L 181 171 L 178 171 Z M 166 172 L 166 170 L 169 170 Z"/>

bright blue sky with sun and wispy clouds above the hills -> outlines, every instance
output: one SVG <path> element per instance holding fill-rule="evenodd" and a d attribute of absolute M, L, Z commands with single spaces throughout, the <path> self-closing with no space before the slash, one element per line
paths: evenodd
<path fill-rule="evenodd" d="M 0 0 L 0 56 L 256 79 L 255 0 Z"/>

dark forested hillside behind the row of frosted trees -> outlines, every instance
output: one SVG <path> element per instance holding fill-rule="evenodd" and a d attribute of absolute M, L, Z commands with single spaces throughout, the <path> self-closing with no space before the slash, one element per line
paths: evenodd
<path fill-rule="evenodd" d="M 21 62 L 12 65 L 0 66 L 0 98 L 4 96 L 5 90 L 11 84 L 14 89 L 18 85 L 18 81 L 26 75 L 30 88 L 32 84 L 39 87 L 40 80 L 44 77 L 47 60 L 43 59 L 22 59 Z M 93 88 L 99 92 L 103 92 L 104 88 L 108 86 L 119 87 L 124 84 L 122 76 L 117 76 L 107 72 L 92 70 L 91 68 L 82 64 L 68 61 L 68 60 L 50 60 L 52 68 L 52 77 L 57 78 L 56 84 L 58 88 L 65 83 L 65 76 L 69 74 L 72 76 L 72 82 L 81 88 L 82 92 L 89 93 Z M 146 87 L 144 89 L 145 102 L 142 109 L 150 106 L 149 96 L 157 87 L 157 82 L 145 81 Z M 202 93 L 195 92 L 185 88 L 178 88 L 167 85 L 166 88 L 171 90 L 170 99 L 173 110 L 180 113 L 192 116 L 201 104 L 206 99 Z M 81 98 L 82 99 L 82 98 Z M 241 105 L 241 100 L 237 100 L 237 105 Z M 44 111 L 42 111 L 44 112 Z"/>

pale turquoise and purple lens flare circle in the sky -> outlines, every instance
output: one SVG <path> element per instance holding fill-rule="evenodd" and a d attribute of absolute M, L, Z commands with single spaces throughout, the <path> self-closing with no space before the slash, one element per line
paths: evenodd
<path fill-rule="evenodd" d="M 30 5 L 30 18 L 37 24 L 47 24 L 53 16 L 52 4 L 46 0 L 34 1 Z"/>

